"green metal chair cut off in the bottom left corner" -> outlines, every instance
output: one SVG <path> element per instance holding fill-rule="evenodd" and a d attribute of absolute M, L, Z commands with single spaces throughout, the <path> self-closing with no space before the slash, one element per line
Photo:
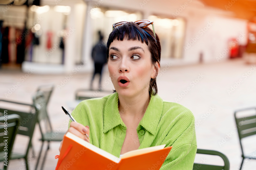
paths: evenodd
<path fill-rule="evenodd" d="M 17 114 L 11 114 L 11 115 L 8 115 L 8 114 L 9 112 L 7 111 L 6 112 L 7 116 L 0 117 L 0 138 L 1 138 L 0 162 L 8 161 L 8 162 L 4 162 L 4 164 L 7 163 L 6 164 L 7 166 L 4 165 L 4 168 L 3 168 L 4 170 L 6 170 L 8 165 L 10 165 L 9 164 L 10 155 L 12 153 L 13 143 L 15 140 L 15 136 L 18 132 L 18 126 L 21 118 Z M 7 122 L 7 124 L 5 122 Z M 5 127 L 5 124 L 7 127 Z M 6 140 L 7 140 L 7 143 L 5 143 Z M 7 144 L 7 147 L 5 147 L 5 144 Z M 5 153 L 7 153 L 7 155 Z"/>

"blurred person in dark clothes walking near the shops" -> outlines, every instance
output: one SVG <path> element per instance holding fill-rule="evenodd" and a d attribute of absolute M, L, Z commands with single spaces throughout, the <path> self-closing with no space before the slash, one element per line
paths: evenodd
<path fill-rule="evenodd" d="M 101 78 L 102 78 L 102 68 L 104 64 L 107 62 L 107 58 L 106 58 L 107 48 L 103 43 L 103 35 L 101 34 L 100 31 L 98 32 L 98 34 L 99 34 L 99 41 L 92 48 L 92 59 L 94 61 L 94 73 L 92 75 L 90 90 L 93 89 L 92 84 L 93 84 L 93 80 L 96 73 L 100 74 L 100 79 L 99 79 L 99 89 L 100 89 Z"/>

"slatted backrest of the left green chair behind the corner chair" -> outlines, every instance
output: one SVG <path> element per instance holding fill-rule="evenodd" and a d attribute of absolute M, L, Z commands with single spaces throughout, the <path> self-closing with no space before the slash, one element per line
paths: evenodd
<path fill-rule="evenodd" d="M 1 113 L 4 113 L 5 110 L 8 110 L 8 115 L 17 114 L 21 117 L 20 123 L 19 123 L 19 126 L 18 126 L 18 134 L 25 135 L 25 136 L 29 137 L 29 142 L 28 142 L 26 155 L 28 154 L 29 146 L 31 145 L 35 125 L 37 123 L 38 113 L 39 113 L 40 108 L 41 108 L 40 104 L 44 102 L 44 96 L 42 95 L 41 92 L 36 92 L 36 95 L 34 96 L 33 100 L 34 100 L 34 103 L 32 105 L 0 100 L 0 101 L 16 104 L 16 105 L 17 104 L 23 104 L 23 105 L 27 105 L 27 106 L 31 107 L 30 112 L 23 112 L 23 111 L 0 108 Z"/>

